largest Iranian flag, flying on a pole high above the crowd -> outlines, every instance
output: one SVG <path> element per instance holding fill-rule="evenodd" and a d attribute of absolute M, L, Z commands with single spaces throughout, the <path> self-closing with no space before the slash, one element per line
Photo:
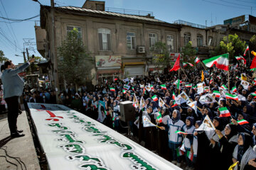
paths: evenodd
<path fill-rule="evenodd" d="M 228 71 L 228 53 L 203 60 L 203 63 L 206 64 L 206 67 L 213 67 L 215 64 L 218 69 Z"/>

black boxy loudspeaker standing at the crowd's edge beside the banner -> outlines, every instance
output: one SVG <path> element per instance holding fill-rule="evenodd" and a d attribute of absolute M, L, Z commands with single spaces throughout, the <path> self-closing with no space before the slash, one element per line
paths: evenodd
<path fill-rule="evenodd" d="M 123 101 L 119 104 L 121 118 L 120 120 L 128 122 L 135 119 L 135 108 L 132 106 L 132 101 Z"/>

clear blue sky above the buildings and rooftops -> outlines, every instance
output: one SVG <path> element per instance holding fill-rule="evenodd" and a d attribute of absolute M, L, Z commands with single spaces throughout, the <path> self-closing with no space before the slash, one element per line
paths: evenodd
<path fill-rule="evenodd" d="M 50 0 L 38 0 L 43 5 L 50 6 Z M 85 0 L 55 0 L 56 6 L 82 7 Z M 251 14 L 256 16 L 256 0 L 106 0 L 106 7 L 126 8 L 142 11 L 152 11 L 155 18 L 169 23 L 176 20 L 188 21 L 207 26 L 223 24 L 228 18 Z M 32 0 L 0 0 L 0 16 L 14 19 L 25 19 L 40 13 L 40 5 Z M 7 16 L 6 16 L 7 14 Z M 0 18 L 0 50 L 15 64 L 23 62 L 23 38 L 34 38 L 36 42 L 35 21 L 14 22 Z M 4 23 L 3 21 L 7 22 Z M 212 21 L 212 23 L 211 23 Z M 6 40 L 6 38 L 8 40 Z M 17 47 L 16 47 L 16 46 Z M 29 50 L 30 55 L 40 54 Z"/>

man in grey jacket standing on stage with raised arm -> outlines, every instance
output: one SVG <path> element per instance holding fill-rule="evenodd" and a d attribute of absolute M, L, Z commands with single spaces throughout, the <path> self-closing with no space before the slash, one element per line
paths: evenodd
<path fill-rule="evenodd" d="M 11 61 L 4 62 L 5 70 L 1 79 L 4 84 L 4 100 L 8 107 L 8 123 L 11 137 L 25 136 L 21 133 L 23 130 L 17 130 L 18 97 L 21 96 L 24 86 L 24 81 L 18 76 L 18 73 L 23 72 L 31 62 L 34 62 L 34 60 L 35 59 L 32 58 L 29 62 L 26 62 L 17 69 L 15 69 L 15 66 Z"/>

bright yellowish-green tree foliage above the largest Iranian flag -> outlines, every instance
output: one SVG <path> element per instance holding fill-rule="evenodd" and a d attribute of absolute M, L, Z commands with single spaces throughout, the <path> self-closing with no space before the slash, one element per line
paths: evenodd
<path fill-rule="evenodd" d="M 238 35 L 228 35 L 220 41 L 220 45 L 215 47 L 215 50 L 212 52 L 212 56 L 229 53 L 230 60 L 235 60 L 235 56 L 242 55 L 245 48 L 245 42 L 242 42 Z"/>

